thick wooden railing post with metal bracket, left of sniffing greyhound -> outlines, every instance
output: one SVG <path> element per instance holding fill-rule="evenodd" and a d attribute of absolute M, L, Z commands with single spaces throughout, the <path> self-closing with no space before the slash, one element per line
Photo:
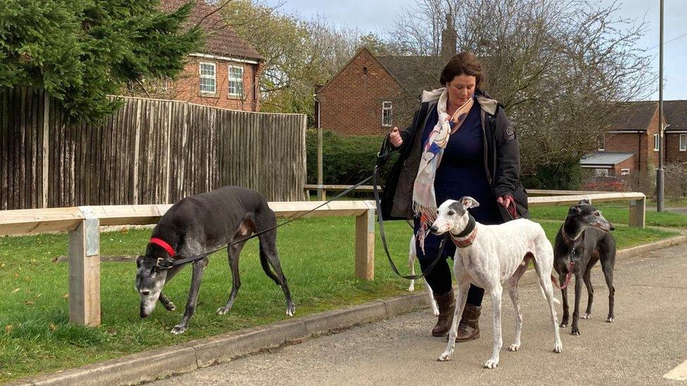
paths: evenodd
<path fill-rule="evenodd" d="M 69 231 L 69 321 L 100 326 L 100 220 L 79 207 L 84 220 Z"/>

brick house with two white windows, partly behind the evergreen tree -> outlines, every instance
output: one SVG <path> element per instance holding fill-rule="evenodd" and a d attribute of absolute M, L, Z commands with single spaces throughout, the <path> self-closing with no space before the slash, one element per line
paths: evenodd
<path fill-rule="evenodd" d="M 162 0 L 163 11 L 174 11 L 188 0 Z M 241 39 L 204 0 L 196 1 L 189 24 L 201 23 L 206 32 L 202 52 L 191 53 L 174 82 L 146 84 L 137 96 L 188 101 L 232 110 L 260 110 L 260 72 L 265 60 Z"/>

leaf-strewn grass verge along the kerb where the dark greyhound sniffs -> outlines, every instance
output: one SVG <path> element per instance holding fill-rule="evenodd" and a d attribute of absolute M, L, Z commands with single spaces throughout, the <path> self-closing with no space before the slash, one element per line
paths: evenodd
<path fill-rule="evenodd" d="M 542 224 L 553 240 L 560 221 Z M 279 230 L 279 254 L 296 302 L 296 316 L 406 290 L 408 282 L 389 269 L 379 238 L 375 280 L 364 282 L 355 278 L 354 230 L 353 217 L 303 219 Z M 619 247 L 673 234 L 626 226 L 618 226 L 614 231 Z M 148 230 L 103 233 L 101 255 L 137 255 L 144 251 L 149 236 Z M 406 272 L 408 224 L 389 223 L 387 238 L 396 264 Z M 231 288 L 227 257 L 218 252 L 210 258 L 196 315 L 183 335 L 172 335 L 169 331 L 182 316 L 191 270 L 185 269 L 165 287 L 177 311 L 169 312 L 158 305 L 149 318 L 140 319 L 134 291 L 134 262 L 101 264 L 102 326 L 71 326 L 67 323 L 68 264 L 53 262 L 66 252 L 66 235 L 0 238 L 0 382 L 287 318 L 282 291 L 263 273 L 257 241 L 251 240 L 241 255 L 243 285 L 229 314 L 215 314 L 227 301 Z"/>

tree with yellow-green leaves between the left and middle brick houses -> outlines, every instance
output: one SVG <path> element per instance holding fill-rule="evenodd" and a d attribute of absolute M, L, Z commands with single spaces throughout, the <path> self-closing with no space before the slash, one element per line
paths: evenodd
<path fill-rule="evenodd" d="M 315 86 L 331 79 L 351 58 L 358 32 L 280 13 L 254 0 L 222 4 L 227 24 L 265 57 L 261 110 L 307 114 L 312 122 Z"/>

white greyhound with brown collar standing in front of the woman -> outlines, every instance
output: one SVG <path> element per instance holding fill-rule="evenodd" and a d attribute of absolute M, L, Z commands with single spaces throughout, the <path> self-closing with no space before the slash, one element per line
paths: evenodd
<path fill-rule="evenodd" d="M 515 352 L 520 348 L 520 331 L 522 330 L 522 313 L 517 299 L 517 282 L 527 270 L 527 264 L 534 262 L 534 269 L 539 280 L 539 288 L 548 301 L 553 327 L 553 352 L 563 351 L 558 333 L 558 320 L 553 297 L 553 286 L 550 282 L 553 269 L 553 247 L 546 238 L 541 225 L 528 219 L 517 219 L 500 225 L 483 225 L 474 221 L 467 212 L 479 202 L 471 197 L 458 201 L 446 200 L 439 207 L 436 221 L 430 231 L 435 234 L 450 232 L 453 243 L 457 246 L 453 263 L 453 272 L 458 281 L 458 296 L 455 298 L 455 314 L 450 328 L 446 351 L 439 356 L 439 361 L 448 361 L 455 347 L 455 335 L 460 323 L 463 308 L 467 300 L 467 290 L 474 283 L 491 295 L 493 306 L 493 352 L 484 364 L 485 368 L 496 368 L 498 356 L 503 345 L 501 339 L 501 284 L 510 284 L 510 300 L 515 306 L 515 342 L 508 351 Z"/>

